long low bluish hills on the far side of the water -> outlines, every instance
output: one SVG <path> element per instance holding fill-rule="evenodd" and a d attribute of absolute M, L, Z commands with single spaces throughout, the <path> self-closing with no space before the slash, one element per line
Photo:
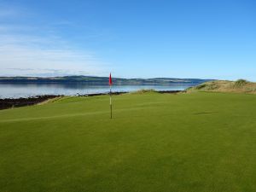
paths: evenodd
<path fill-rule="evenodd" d="M 113 84 L 201 84 L 211 79 L 172 79 L 172 78 L 154 78 L 154 79 L 121 79 L 113 78 Z M 11 84 L 44 84 L 44 83 L 87 83 L 87 84 L 108 84 L 108 77 L 92 76 L 65 76 L 53 78 L 39 77 L 0 77 L 0 83 Z"/>

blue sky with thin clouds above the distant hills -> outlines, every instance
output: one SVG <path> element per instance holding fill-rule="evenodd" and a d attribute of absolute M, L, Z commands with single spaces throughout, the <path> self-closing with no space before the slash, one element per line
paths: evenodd
<path fill-rule="evenodd" d="M 0 0 L 0 76 L 256 81 L 254 0 Z"/>

